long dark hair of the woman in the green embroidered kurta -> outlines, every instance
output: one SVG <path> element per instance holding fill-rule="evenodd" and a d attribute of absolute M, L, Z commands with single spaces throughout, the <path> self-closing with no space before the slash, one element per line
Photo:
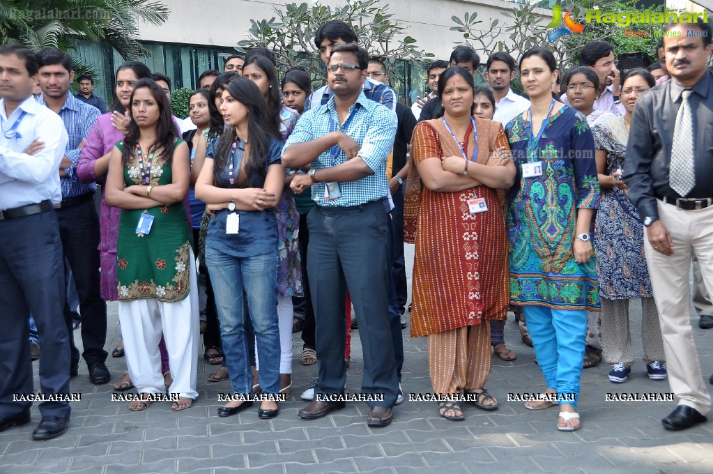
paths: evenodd
<path fill-rule="evenodd" d="M 131 98 L 129 101 L 129 106 L 133 104 L 133 98 L 138 91 L 138 89 L 147 88 L 153 96 L 153 100 L 156 101 L 158 105 L 158 122 L 156 123 L 156 139 L 148 147 L 148 150 L 141 150 L 145 155 L 149 155 L 155 150 L 161 150 L 161 156 L 171 162 L 173 158 L 173 143 L 175 139 L 178 138 L 176 135 L 176 126 L 173 123 L 173 114 L 171 113 L 171 105 L 168 102 L 168 96 L 163 91 L 160 86 L 153 81 L 151 78 L 139 79 L 136 85 L 131 91 Z M 140 129 L 133 118 L 133 111 L 131 113 L 131 120 L 129 122 L 129 133 L 126 134 L 124 138 L 123 151 L 121 152 L 121 160 L 124 165 L 130 163 L 133 159 L 134 149 L 138 143 L 138 138 L 140 135 Z"/>

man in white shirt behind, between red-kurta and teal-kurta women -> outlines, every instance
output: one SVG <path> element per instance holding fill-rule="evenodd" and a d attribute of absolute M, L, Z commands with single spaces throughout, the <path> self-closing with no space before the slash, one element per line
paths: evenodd
<path fill-rule="evenodd" d="M 493 120 L 502 123 L 503 127 L 530 107 L 530 101 L 510 88 L 515 78 L 515 60 L 508 53 L 498 51 L 491 54 L 486 63 L 486 78 L 495 96 Z"/>

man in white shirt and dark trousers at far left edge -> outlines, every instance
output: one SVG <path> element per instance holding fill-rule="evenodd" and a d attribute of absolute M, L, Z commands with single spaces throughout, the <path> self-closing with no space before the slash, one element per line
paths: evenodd
<path fill-rule="evenodd" d="M 32 437 L 56 438 L 69 425 L 70 351 L 64 321 L 64 263 L 53 205 L 68 137 L 59 115 L 37 103 L 35 54 L 0 46 L 0 431 L 30 421 L 34 391 L 30 312 L 42 342 L 40 383 L 51 401 Z"/>

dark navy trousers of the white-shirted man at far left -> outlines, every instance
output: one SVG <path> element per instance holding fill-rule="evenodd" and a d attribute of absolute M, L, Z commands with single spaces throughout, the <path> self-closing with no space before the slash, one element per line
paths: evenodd
<path fill-rule="evenodd" d="M 40 390 L 69 393 L 69 331 L 63 318 L 64 264 L 54 212 L 0 221 L 0 414 L 18 416 L 31 401 L 14 394 L 36 393 L 32 383 L 30 311 L 39 332 Z M 44 401 L 42 416 L 68 418 L 67 401 Z"/>

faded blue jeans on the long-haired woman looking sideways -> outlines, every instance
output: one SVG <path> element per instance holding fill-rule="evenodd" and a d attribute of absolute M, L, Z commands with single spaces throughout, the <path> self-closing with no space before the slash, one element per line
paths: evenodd
<path fill-rule="evenodd" d="M 225 363 L 236 394 L 252 393 L 250 346 L 245 323 L 255 329 L 260 358 L 260 387 L 279 392 L 279 329 L 277 326 L 277 249 L 255 257 L 235 257 L 212 247 L 205 249 L 205 263 L 215 292 L 220 339 Z M 247 308 L 243 304 L 243 291 Z"/>

